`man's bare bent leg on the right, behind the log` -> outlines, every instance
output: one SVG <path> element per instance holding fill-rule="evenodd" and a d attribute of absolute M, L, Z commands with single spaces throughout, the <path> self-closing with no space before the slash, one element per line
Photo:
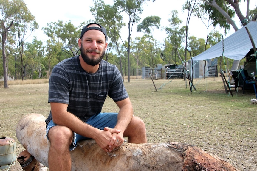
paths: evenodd
<path fill-rule="evenodd" d="M 129 143 L 147 143 L 145 123 L 143 120 L 133 116 L 123 136 L 129 137 Z"/>

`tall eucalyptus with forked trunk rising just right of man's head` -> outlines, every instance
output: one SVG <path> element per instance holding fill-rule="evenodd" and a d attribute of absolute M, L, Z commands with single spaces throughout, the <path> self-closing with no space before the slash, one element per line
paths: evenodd
<path fill-rule="evenodd" d="M 113 35 L 114 40 L 119 38 L 127 51 L 127 65 L 128 65 L 128 82 L 130 82 L 130 38 L 132 29 L 135 23 L 140 21 L 140 15 L 143 11 L 142 5 L 145 1 L 149 0 L 114 0 L 113 5 L 105 5 L 101 0 L 95 0 L 95 7 L 91 7 L 91 12 L 97 16 L 98 21 L 103 21 L 107 26 L 112 29 L 116 35 Z M 154 0 L 152 0 L 154 1 Z M 103 10 L 107 9 L 107 10 Z M 94 13 L 95 11 L 95 13 Z M 128 42 L 127 46 L 125 41 L 120 36 L 120 29 L 124 26 L 123 13 L 129 16 L 128 18 Z M 108 16 L 108 17 L 106 17 Z M 107 28 L 108 29 L 108 28 Z M 112 35 L 111 35 L 112 36 Z M 121 56 L 121 51 L 119 50 Z"/>

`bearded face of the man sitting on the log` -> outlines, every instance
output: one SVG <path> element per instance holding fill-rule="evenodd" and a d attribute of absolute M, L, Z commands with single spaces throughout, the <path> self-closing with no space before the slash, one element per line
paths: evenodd
<path fill-rule="evenodd" d="M 90 26 L 98 26 L 92 24 Z M 90 27 L 89 26 L 89 27 Z M 107 43 L 104 34 L 99 30 L 89 30 L 79 41 L 81 57 L 88 65 L 95 66 L 100 63 L 105 55 Z"/>

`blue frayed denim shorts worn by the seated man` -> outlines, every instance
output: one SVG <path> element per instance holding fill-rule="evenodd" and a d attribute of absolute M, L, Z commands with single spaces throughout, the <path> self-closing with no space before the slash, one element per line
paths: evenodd
<path fill-rule="evenodd" d="M 117 113 L 99 113 L 95 116 L 90 117 L 88 120 L 85 121 L 85 123 L 98 128 L 100 130 L 103 130 L 104 127 L 114 128 L 117 124 Z M 50 120 L 50 122 L 47 124 L 47 138 L 48 138 L 48 131 L 50 128 L 57 126 L 53 120 Z M 77 147 L 77 142 L 80 140 L 85 139 L 91 139 L 87 137 L 83 137 L 79 134 L 76 134 L 74 132 L 74 141 L 72 142 L 69 150 L 74 150 Z"/>

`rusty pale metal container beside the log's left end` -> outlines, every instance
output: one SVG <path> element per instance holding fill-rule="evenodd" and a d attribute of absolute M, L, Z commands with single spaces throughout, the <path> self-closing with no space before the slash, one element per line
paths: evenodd
<path fill-rule="evenodd" d="M 12 138 L 0 138 L 0 169 L 6 169 L 15 165 L 16 142 Z"/>

